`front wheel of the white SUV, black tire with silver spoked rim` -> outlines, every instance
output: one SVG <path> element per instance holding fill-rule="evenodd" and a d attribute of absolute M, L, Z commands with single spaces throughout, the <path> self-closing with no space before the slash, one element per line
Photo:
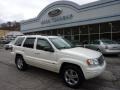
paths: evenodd
<path fill-rule="evenodd" d="M 79 88 L 85 80 L 82 70 L 75 65 L 65 66 L 61 76 L 64 83 L 71 88 Z"/>

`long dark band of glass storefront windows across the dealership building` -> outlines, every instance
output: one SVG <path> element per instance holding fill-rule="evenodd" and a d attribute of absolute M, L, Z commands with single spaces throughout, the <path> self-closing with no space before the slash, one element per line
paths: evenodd
<path fill-rule="evenodd" d="M 47 31 L 43 30 L 39 32 L 31 32 L 29 34 L 58 35 L 64 36 L 69 40 L 80 40 L 81 42 L 90 42 L 99 38 L 118 40 L 120 38 L 120 21 L 59 28 Z"/>

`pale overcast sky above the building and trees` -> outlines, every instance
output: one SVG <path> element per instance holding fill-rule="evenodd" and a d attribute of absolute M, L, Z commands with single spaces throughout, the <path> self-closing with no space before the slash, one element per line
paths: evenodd
<path fill-rule="evenodd" d="M 0 23 L 34 18 L 43 8 L 55 1 L 58 0 L 0 0 Z M 83 5 L 98 0 L 69 1 Z"/>

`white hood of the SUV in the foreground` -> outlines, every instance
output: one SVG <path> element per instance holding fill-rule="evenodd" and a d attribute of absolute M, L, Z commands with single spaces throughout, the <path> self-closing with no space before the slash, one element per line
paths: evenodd
<path fill-rule="evenodd" d="M 61 52 L 66 53 L 66 54 L 71 54 L 71 55 L 83 56 L 89 59 L 98 58 L 102 55 L 98 51 L 94 51 L 94 50 L 82 48 L 82 47 L 62 49 Z"/>

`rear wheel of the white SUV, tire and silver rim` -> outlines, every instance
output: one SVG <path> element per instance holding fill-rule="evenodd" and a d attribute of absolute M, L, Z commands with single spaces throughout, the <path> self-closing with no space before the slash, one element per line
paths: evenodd
<path fill-rule="evenodd" d="M 18 70 L 25 71 L 27 69 L 27 64 L 25 63 L 22 56 L 17 56 L 15 59 L 15 64 Z"/>

